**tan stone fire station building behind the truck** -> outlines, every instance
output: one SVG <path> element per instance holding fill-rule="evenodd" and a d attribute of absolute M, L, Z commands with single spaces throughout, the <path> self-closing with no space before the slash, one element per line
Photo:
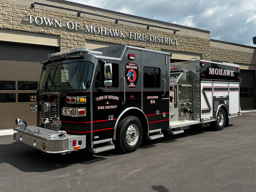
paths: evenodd
<path fill-rule="evenodd" d="M 36 118 L 25 112 L 29 101 L 23 96 L 36 92 L 31 88 L 31 82 L 36 84 L 38 81 L 40 61 L 45 60 L 47 54 L 77 47 L 94 49 L 117 44 L 170 52 L 172 62 L 198 58 L 238 63 L 241 76 L 243 70 L 246 71 L 242 79 L 255 82 L 254 47 L 210 39 L 207 30 L 64 0 L 38 0 L 36 3 L 32 0 L 0 0 L 0 107 L 24 110 L 25 114 L 20 118 L 27 118 L 33 124 Z M 247 73 L 250 73 L 250 79 Z M 9 89 L 1 89 L 1 82 L 2 87 L 12 85 Z M 250 100 L 253 106 L 245 108 L 255 108 L 256 88 L 254 84 L 248 86 L 244 96 L 247 93 L 253 95 Z M 10 121 L 20 115 L 20 111 L 13 110 L 12 116 L 0 112 L 5 128 L 14 126 Z"/>

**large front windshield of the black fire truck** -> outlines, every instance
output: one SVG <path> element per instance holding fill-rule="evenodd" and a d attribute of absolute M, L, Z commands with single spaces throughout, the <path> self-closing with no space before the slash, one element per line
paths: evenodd
<path fill-rule="evenodd" d="M 58 64 L 56 70 L 55 66 L 47 66 L 42 71 L 39 88 L 52 86 L 52 90 L 87 90 L 90 86 L 92 68 L 93 64 L 88 61 Z M 54 79 L 52 71 L 56 71 Z"/>

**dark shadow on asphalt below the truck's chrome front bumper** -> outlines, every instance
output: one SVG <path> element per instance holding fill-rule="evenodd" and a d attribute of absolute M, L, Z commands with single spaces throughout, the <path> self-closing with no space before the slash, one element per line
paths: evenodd
<path fill-rule="evenodd" d="M 7 163 L 23 172 L 48 172 L 73 164 L 91 164 L 106 159 L 93 156 L 86 150 L 66 155 L 47 154 L 17 141 L 0 144 L 0 154 L 0 166 Z"/>

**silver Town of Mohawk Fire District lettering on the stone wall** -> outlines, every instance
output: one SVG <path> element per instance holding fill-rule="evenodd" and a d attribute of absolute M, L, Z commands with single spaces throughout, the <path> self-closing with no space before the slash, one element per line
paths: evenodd
<path fill-rule="evenodd" d="M 61 20 L 50 19 L 47 17 L 34 16 L 29 14 L 27 15 L 27 17 L 29 18 L 29 23 L 31 24 L 33 24 L 33 22 L 36 23 L 36 25 L 42 25 L 44 23 L 46 26 L 49 26 L 49 27 L 53 26 L 53 27 L 62 28 Z M 81 24 L 77 22 L 68 21 L 66 24 L 66 27 L 69 30 L 77 31 L 79 28 L 81 28 Z M 138 41 L 148 40 L 149 42 L 172 44 L 172 45 L 178 45 L 178 41 L 179 41 L 178 39 L 173 39 L 173 38 L 153 36 L 153 35 L 147 36 L 146 34 L 134 33 L 129 31 L 126 32 L 126 31 L 116 30 L 116 29 L 107 29 L 107 28 L 102 28 L 102 27 L 92 26 L 92 25 L 84 25 L 84 32 L 100 34 L 105 36 L 129 38 L 129 39 L 134 39 Z"/>

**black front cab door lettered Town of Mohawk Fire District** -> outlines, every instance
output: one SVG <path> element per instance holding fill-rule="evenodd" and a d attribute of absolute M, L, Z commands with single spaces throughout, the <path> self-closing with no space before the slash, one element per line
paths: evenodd
<path fill-rule="evenodd" d="M 104 61 L 112 64 L 112 78 L 107 79 L 107 87 L 104 86 Z M 92 141 L 113 138 L 116 119 L 122 111 L 121 62 L 104 61 L 97 63 L 92 85 Z"/>

